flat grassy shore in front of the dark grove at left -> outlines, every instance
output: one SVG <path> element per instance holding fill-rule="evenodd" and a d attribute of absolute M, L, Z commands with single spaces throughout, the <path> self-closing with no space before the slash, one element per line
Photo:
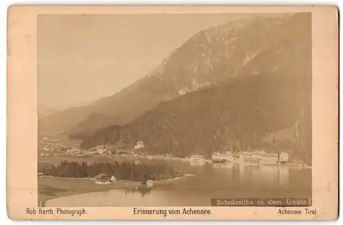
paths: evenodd
<path fill-rule="evenodd" d="M 38 205 L 41 205 L 44 200 L 49 198 L 95 191 L 106 191 L 128 187 L 130 185 L 140 185 L 140 183 L 135 181 L 117 181 L 109 185 L 98 185 L 89 179 L 38 178 Z"/>

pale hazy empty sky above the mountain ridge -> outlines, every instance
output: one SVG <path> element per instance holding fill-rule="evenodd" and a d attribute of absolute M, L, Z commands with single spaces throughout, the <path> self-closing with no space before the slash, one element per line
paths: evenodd
<path fill-rule="evenodd" d="M 63 108 L 110 96 L 202 29 L 248 14 L 38 16 L 38 105 Z"/>

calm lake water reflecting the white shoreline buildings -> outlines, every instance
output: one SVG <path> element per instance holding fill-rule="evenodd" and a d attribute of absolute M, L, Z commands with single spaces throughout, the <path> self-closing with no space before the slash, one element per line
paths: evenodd
<path fill-rule="evenodd" d="M 194 176 L 45 202 L 46 207 L 211 206 L 211 198 L 311 198 L 311 169 L 153 160 Z"/>

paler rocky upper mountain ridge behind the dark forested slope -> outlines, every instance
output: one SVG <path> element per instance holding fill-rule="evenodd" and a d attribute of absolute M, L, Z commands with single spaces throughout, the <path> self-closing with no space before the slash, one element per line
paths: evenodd
<path fill-rule="evenodd" d="M 108 125 L 123 125 L 159 103 L 230 78 L 270 73 L 311 75 L 311 71 L 302 67 L 311 55 L 311 51 L 303 51 L 311 44 L 309 38 L 311 14 L 307 13 L 250 18 L 211 27 L 182 44 L 143 79 L 91 105 L 47 116 L 38 121 L 38 131 L 68 133 L 94 113 L 113 118 Z M 290 66 L 298 70 L 296 74 L 287 72 Z"/>

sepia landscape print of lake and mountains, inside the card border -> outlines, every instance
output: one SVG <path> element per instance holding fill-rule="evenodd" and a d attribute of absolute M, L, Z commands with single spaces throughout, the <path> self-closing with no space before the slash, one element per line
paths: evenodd
<path fill-rule="evenodd" d="M 38 207 L 311 206 L 311 12 L 39 14 L 36 36 Z"/>

